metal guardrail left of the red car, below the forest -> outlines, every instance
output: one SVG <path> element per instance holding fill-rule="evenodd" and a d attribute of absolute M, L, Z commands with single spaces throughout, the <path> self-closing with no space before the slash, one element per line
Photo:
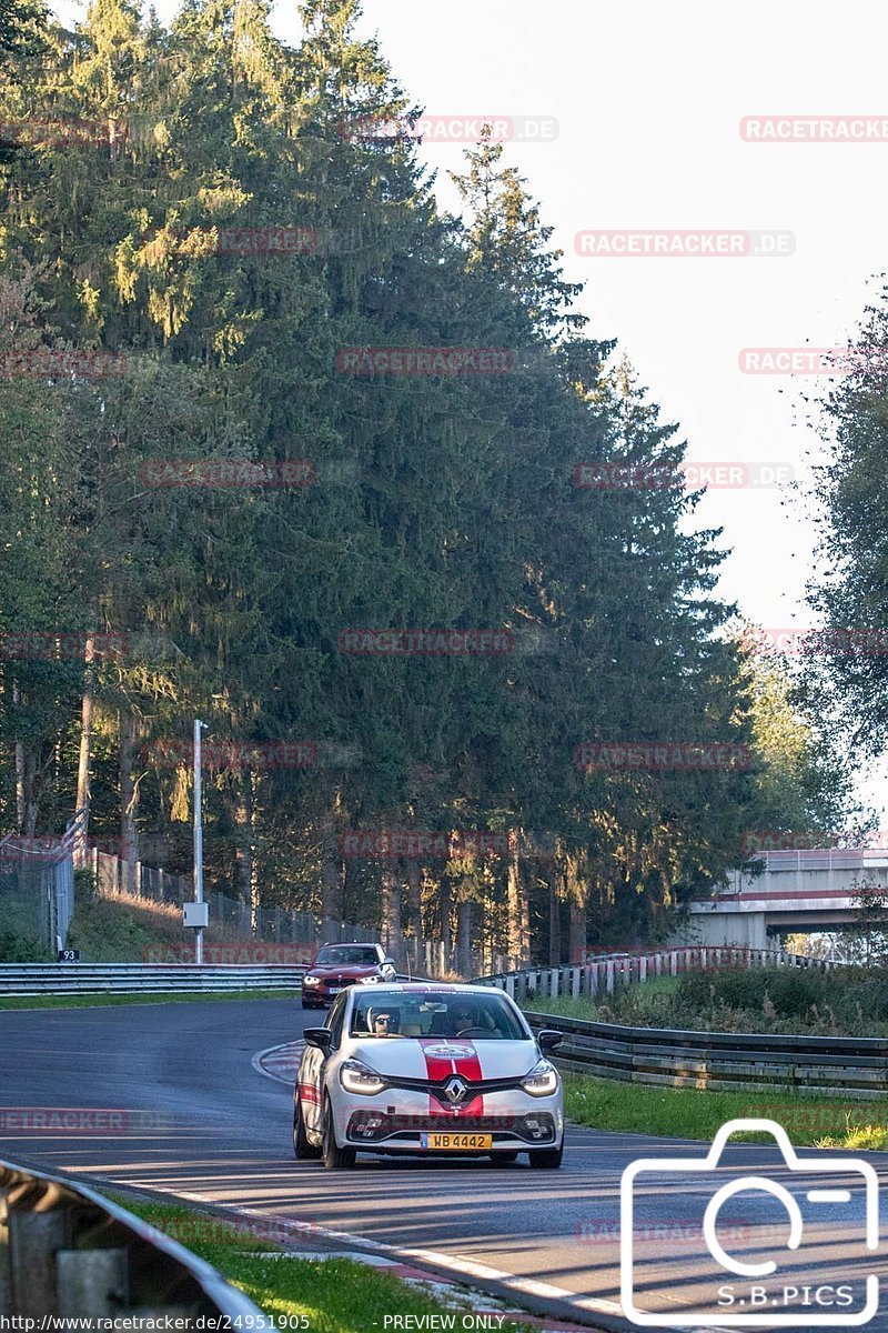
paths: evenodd
<path fill-rule="evenodd" d="M 306 970 L 274 964 L 4 962 L 0 964 L 0 994 L 300 990 Z"/>

